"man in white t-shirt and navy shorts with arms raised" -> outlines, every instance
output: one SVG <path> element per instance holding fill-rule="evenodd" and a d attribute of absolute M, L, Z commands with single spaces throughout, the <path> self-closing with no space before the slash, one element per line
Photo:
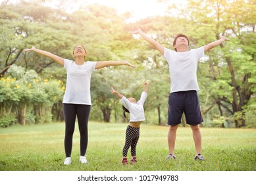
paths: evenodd
<path fill-rule="evenodd" d="M 197 91 L 197 62 L 204 53 L 220 45 L 223 41 L 230 41 L 226 37 L 221 37 L 203 47 L 188 50 L 190 41 L 186 35 L 179 34 L 173 42 L 175 51 L 165 48 L 163 45 L 149 37 L 138 29 L 132 34 L 140 34 L 145 41 L 157 49 L 165 57 L 170 70 L 170 95 L 168 99 L 168 148 L 167 160 L 176 158 L 174 154 L 176 131 L 181 123 L 181 116 L 184 112 L 186 122 L 193 131 L 193 141 L 195 143 L 195 160 L 203 160 L 201 155 L 201 131 L 199 124 L 203 122 Z"/>

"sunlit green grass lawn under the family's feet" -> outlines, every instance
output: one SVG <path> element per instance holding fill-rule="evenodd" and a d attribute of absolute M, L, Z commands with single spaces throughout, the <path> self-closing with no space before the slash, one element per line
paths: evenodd
<path fill-rule="evenodd" d="M 256 129 L 201 128 L 204 161 L 195 161 L 190 127 L 179 127 L 176 160 L 168 154 L 168 126 L 142 124 L 138 163 L 122 166 L 127 124 L 90 122 L 88 164 L 78 162 L 78 124 L 73 138 L 72 164 L 64 166 L 64 123 L 11 126 L 0 129 L 1 171 L 255 171 Z M 130 159 L 130 150 L 128 152 Z"/>

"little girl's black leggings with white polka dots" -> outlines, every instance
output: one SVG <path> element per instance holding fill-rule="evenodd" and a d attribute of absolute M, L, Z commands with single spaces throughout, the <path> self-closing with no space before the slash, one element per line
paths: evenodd
<path fill-rule="evenodd" d="M 131 127 L 126 128 L 126 137 L 124 149 L 122 149 L 122 156 L 127 156 L 127 152 L 131 147 L 132 156 L 136 156 L 136 145 L 140 138 L 140 127 Z"/>

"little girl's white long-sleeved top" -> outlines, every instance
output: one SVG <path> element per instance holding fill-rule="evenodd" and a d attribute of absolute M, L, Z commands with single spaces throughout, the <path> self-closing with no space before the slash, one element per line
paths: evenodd
<path fill-rule="evenodd" d="M 124 95 L 122 96 L 120 101 L 130 112 L 130 122 L 141 122 L 145 120 L 143 105 L 146 99 L 147 93 L 145 91 L 141 93 L 140 100 L 137 103 L 131 103 Z"/>

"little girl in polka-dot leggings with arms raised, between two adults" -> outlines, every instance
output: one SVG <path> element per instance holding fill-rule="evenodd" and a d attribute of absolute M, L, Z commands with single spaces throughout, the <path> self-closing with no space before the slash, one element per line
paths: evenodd
<path fill-rule="evenodd" d="M 124 110 L 124 116 L 125 116 L 125 112 L 130 113 L 130 122 L 128 124 L 128 127 L 126 128 L 125 145 L 124 145 L 124 149 L 122 149 L 123 165 L 128 164 L 127 152 L 130 147 L 131 147 L 131 153 L 132 153 L 132 160 L 130 160 L 130 164 L 134 164 L 137 162 L 136 145 L 140 137 L 140 124 L 142 121 L 145 120 L 143 104 L 147 99 L 147 89 L 149 88 L 150 83 L 147 83 L 146 81 L 144 81 L 144 85 L 145 85 L 145 89 L 144 91 L 142 91 L 140 101 L 138 101 L 137 103 L 136 103 L 136 99 L 134 99 L 133 97 L 126 99 L 124 95 L 121 95 L 120 93 L 118 93 L 118 91 L 115 91 L 115 89 L 111 87 L 112 89 L 111 93 L 115 94 L 123 104 L 122 108 Z"/>

